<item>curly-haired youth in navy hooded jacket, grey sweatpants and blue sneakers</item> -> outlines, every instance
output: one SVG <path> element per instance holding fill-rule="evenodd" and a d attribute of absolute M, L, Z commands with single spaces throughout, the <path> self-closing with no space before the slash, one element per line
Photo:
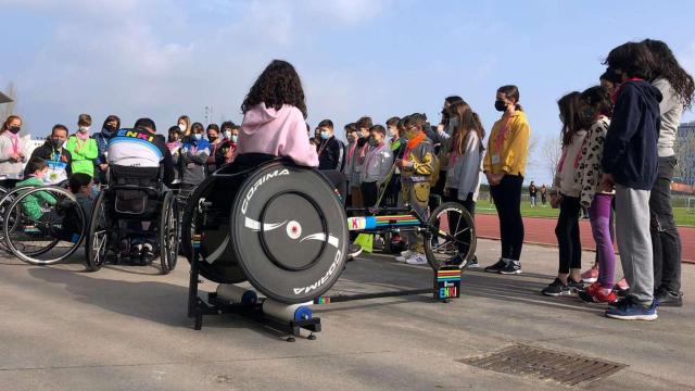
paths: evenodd
<path fill-rule="evenodd" d="M 606 316 L 655 320 L 654 265 L 649 234 L 649 191 L 657 178 L 661 92 L 648 81 L 654 58 L 644 43 L 628 42 L 610 51 L 606 64 L 620 75 L 614 93 L 612 122 L 602 167 L 604 190 L 616 189 L 616 236 L 630 293 Z"/>

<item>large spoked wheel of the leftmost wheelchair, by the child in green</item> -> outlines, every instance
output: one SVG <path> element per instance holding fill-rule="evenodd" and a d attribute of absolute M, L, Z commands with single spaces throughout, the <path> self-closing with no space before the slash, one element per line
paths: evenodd
<path fill-rule="evenodd" d="M 72 192 L 59 187 L 53 187 L 53 186 L 35 187 L 33 189 L 25 190 L 25 191 L 26 192 L 15 197 L 14 201 L 12 201 L 12 203 L 5 211 L 5 215 L 3 217 L 3 219 L 7 222 L 14 220 L 14 224 L 3 225 L 3 236 L 4 238 L 7 238 L 5 241 L 8 244 L 8 249 L 16 257 L 31 265 L 40 265 L 40 266 L 53 265 L 68 258 L 72 254 L 75 253 L 75 251 L 77 251 L 77 249 L 83 242 L 83 239 L 85 238 L 85 228 L 86 228 L 85 214 L 81 207 L 79 206 L 79 204 L 77 203 L 77 199 Z M 41 240 L 47 242 L 46 245 L 40 247 L 38 250 L 26 251 L 26 247 L 25 247 L 26 244 L 21 243 L 20 240 L 17 240 L 17 242 L 15 243 L 15 240 L 13 240 L 14 231 L 16 231 L 17 228 L 22 227 L 22 220 L 24 220 L 24 217 L 22 217 L 22 201 L 25 198 L 30 197 L 37 192 L 51 193 L 51 195 L 53 195 L 55 199 L 59 200 L 59 203 L 64 203 L 65 200 L 68 200 L 68 202 L 72 203 L 72 207 L 74 210 L 75 215 L 72 215 L 70 218 L 75 218 L 77 220 L 77 222 L 71 222 L 72 224 L 77 224 L 79 227 L 77 229 L 77 232 L 74 232 L 77 235 L 77 237 L 71 237 L 70 240 L 62 238 L 62 231 L 60 230 L 54 231 L 53 230 L 54 227 L 51 226 L 50 227 L 51 234 L 48 235 L 46 240 Z M 62 217 L 62 220 L 60 223 L 61 227 L 64 227 L 63 224 L 65 218 L 67 217 L 66 216 Z M 31 222 L 31 223 L 37 224 L 38 222 Z M 53 232 L 55 235 L 53 235 Z M 30 237 L 24 236 L 24 238 L 30 238 Z M 38 239 L 38 238 L 35 238 L 35 239 Z M 50 252 L 51 250 L 55 249 L 60 242 L 72 242 L 72 244 L 70 247 L 62 247 L 61 249 L 64 249 L 64 250 L 59 250 L 60 253 L 58 255 L 51 254 L 49 256 L 42 256 L 48 252 Z"/>

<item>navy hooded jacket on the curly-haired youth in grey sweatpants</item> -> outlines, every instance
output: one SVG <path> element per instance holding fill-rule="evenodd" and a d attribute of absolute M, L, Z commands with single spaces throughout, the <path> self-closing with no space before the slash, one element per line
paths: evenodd
<path fill-rule="evenodd" d="M 661 92 L 644 80 L 620 87 L 606 135 L 602 166 L 614 181 L 637 190 L 650 190 L 658 168 L 657 140 Z"/>

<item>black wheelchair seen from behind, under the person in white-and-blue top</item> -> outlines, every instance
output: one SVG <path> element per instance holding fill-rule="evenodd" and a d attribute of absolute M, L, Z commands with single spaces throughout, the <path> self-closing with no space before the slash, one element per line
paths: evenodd
<path fill-rule="evenodd" d="M 87 229 L 87 269 L 99 270 L 110 255 L 118 263 L 122 240 L 138 236 L 157 242 L 154 250 L 160 255 L 160 272 L 168 274 L 176 267 L 179 220 L 178 202 L 164 186 L 163 168 L 111 165 L 108 178 Z M 150 227 L 139 228 L 142 223 L 150 223 Z"/>

